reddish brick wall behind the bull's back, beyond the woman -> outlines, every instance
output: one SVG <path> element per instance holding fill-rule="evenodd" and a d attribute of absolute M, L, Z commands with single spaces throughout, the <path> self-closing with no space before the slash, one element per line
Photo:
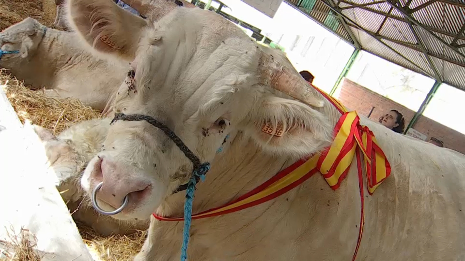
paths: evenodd
<path fill-rule="evenodd" d="M 374 107 L 370 119 L 378 121 L 378 118 L 387 111 L 392 109 L 398 110 L 405 118 L 405 128 L 415 115 L 415 112 L 406 108 L 405 106 L 391 101 L 386 97 L 379 95 L 372 90 L 369 90 L 361 85 L 356 84 L 344 78 L 340 84 L 341 91 L 339 97 L 344 106 L 351 110 L 356 110 L 359 115 L 368 116 L 372 107 Z M 413 127 L 415 130 L 428 136 L 434 136 L 444 142 L 444 146 L 465 154 L 465 135 L 454 131 L 426 116 L 420 116 L 416 125 Z"/>

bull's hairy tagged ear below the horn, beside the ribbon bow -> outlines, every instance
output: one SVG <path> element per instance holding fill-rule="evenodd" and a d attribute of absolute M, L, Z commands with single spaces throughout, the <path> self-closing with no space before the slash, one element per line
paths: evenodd
<path fill-rule="evenodd" d="M 305 157 L 330 145 L 332 126 L 322 113 L 294 100 L 265 97 L 247 132 L 272 153 Z"/>

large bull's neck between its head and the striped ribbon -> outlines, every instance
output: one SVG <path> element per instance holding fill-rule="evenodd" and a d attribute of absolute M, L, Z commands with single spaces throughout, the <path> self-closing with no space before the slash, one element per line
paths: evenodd
<path fill-rule="evenodd" d="M 323 96 L 314 90 L 315 95 Z M 318 111 L 327 116 L 335 126 L 341 113 L 327 100 Z M 262 150 L 251 138 L 239 132 L 228 141 L 230 146 L 213 160 L 205 182 L 200 182 L 195 191 L 193 214 L 222 206 L 260 186 L 299 160 L 295 157 L 271 155 Z M 169 197 L 158 215 L 183 217 L 185 192 Z"/>

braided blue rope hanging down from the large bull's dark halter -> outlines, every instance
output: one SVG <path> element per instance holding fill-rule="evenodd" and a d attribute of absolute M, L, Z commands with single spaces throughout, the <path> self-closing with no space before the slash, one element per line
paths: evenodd
<path fill-rule="evenodd" d="M 181 247 L 181 261 L 187 259 L 187 245 L 189 244 L 189 230 L 192 221 L 192 202 L 194 201 L 194 191 L 196 185 L 196 176 L 200 177 L 202 182 L 205 181 L 205 174 L 210 170 L 210 163 L 203 163 L 198 169 L 192 172 L 186 189 L 186 203 L 184 203 L 184 231 L 183 246 Z"/>

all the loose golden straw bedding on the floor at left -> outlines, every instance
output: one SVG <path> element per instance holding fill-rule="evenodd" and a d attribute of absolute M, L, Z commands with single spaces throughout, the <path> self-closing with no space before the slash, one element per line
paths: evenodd
<path fill-rule="evenodd" d="M 40 23 L 52 27 L 55 19 L 54 0 L 0 0 L 0 31 L 22 21 L 26 17 L 37 19 Z M 83 120 L 100 117 L 100 113 L 84 106 L 77 99 L 57 100 L 48 98 L 41 90 L 33 91 L 22 82 L 10 77 L 8 71 L 0 69 L 0 87 L 22 123 L 29 119 L 32 124 L 43 126 L 58 135 L 69 126 Z M 140 251 L 146 236 L 145 231 L 128 236 L 101 237 L 93 229 L 77 223 L 79 232 L 96 261 L 133 260 Z M 8 261 L 39 261 L 40 255 L 33 250 L 34 236 L 27 230 L 13 233 L 8 249 L 16 255 L 10 255 Z M 8 245 L 9 244 L 9 245 Z"/>

